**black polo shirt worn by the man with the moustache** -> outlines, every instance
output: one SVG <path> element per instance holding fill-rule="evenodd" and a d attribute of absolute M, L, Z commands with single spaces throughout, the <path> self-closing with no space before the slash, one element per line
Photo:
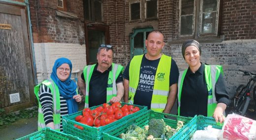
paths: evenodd
<path fill-rule="evenodd" d="M 100 72 L 97 70 L 98 64 L 96 64 L 92 77 L 89 82 L 89 107 L 101 105 L 106 103 L 107 100 L 107 82 L 109 71 L 112 70 L 112 66 Z M 85 80 L 84 74 L 81 74 L 81 78 Z M 118 78 L 116 79 L 116 84 L 123 82 L 122 72 L 120 72 Z"/>

